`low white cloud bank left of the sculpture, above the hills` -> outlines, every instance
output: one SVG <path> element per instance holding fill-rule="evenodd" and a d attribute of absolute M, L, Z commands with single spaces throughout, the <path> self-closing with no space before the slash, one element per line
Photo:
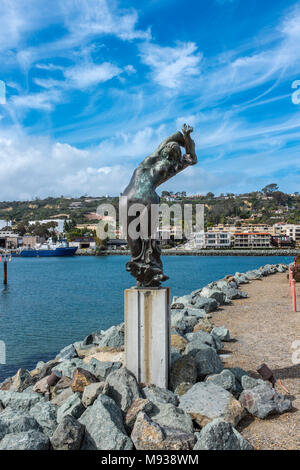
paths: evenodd
<path fill-rule="evenodd" d="M 0 134 L 0 200 L 64 195 L 118 193 L 132 169 L 97 161 L 99 153 L 47 138 Z"/>

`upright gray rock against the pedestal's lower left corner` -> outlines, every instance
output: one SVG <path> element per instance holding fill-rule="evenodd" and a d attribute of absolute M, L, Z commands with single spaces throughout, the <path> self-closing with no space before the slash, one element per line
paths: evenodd
<path fill-rule="evenodd" d="M 141 397 L 136 378 L 126 367 L 109 374 L 103 394 L 112 398 L 124 413 L 137 398 Z"/>

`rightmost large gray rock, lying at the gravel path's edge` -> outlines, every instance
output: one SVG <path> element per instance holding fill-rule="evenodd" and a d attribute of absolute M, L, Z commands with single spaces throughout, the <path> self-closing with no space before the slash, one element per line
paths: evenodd
<path fill-rule="evenodd" d="M 284 413 L 292 408 L 291 400 L 277 393 L 266 383 L 244 390 L 239 400 L 250 414 L 260 419 L 271 414 Z"/>

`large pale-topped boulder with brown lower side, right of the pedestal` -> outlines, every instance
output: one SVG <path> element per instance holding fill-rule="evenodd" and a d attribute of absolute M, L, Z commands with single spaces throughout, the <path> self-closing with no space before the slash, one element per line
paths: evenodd
<path fill-rule="evenodd" d="M 200 426 L 223 418 L 234 426 L 244 416 L 244 409 L 231 393 L 210 382 L 198 382 L 180 397 L 179 407 Z"/>

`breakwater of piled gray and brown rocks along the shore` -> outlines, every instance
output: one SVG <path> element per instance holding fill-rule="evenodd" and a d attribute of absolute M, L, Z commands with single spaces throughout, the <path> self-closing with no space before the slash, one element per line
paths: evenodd
<path fill-rule="evenodd" d="M 213 325 L 213 313 L 247 297 L 243 284 L 286 270 L 266 265 L 173 298 L 168 390 L 137 383 L 123 366 L 124 324 L 19 369 L 0 384 L 0 450 L 253 449 L 236 425 L 292 403 L 243 369 L 223 367 L 230 332 Z"/>

